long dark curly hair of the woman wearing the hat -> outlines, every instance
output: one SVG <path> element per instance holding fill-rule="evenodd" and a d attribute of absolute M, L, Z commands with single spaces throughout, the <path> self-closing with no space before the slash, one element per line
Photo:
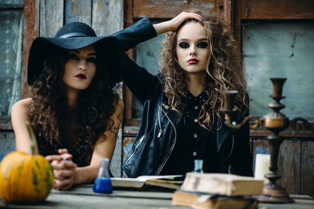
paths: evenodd
<path fill-rule="evenodd" d="M 114 85 L 109 86 L 105 56 L 97 54 L 95 77 L 87 89 L 80 91 L 76 123 L 70 124 L 68 99 L 62 82 L 68 51 L 60 48 L 50 51 L 42 73 L 31 87 L 33 102 L 28 108 L 39 151 L 43 155 L 58 154 L 59 148 L 68 148 L 69 127 L 74 126 L 77 141 L 72 159 L 79 166 L 86 166 L 96 140 L 112 128 L 110 116 L 118 104 L 118 95 L 113 90 Z"/>

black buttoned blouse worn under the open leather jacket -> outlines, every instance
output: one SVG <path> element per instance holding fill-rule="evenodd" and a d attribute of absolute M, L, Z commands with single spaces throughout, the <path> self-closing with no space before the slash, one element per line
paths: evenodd
<path fill-rule="evenodd" d="M 208 98 L 207 91 L 197 97 L 188 91 L 185 94 L 188 99 L 183 99 L 186 104 L 184 104 L 184 117 L 180 121 L 176 145 L 161 175 L 191 172 L 194 170 L 195 159 L 203 159 L 204 172 L 218 172 L 217 131 L 215 130 L 217 125 L 209 131 L 198 121 L 201 106 Z"/>

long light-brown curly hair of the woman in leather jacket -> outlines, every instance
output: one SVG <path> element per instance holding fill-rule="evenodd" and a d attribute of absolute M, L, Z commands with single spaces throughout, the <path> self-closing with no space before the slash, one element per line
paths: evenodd
<path fill-rule="evenodd" d="M 189 9 L 185 12 L 196 13 L 201 16 L 203 22 L 197 20 L 185 21 L 176 32 L 168 32 L 162 49 L 163 62 L 161 64 L 161 78 L 164 83 L 164 92 L 169 98 L 171 108 L 182 115 L 178 108 L 183 102 L 182 96 L 185 84 L 185 74 L 180 68 L 176 54 L 177 32 L 185 24 L 201 24 L 208 38 L 209 57 L 207 61 L 207 94 L 209 108 L 202 106 L 199 116 L 200 124 L 211 129 L 215 124 L 215 116 L 221 118 L 220 110 L 223 108 L 222 91 L 237 90 L 239 93 L 235 98 L 235 108 L 238 117 L 243 117 L 248 109 L 248 98 L 246 96 L 246 82 L 240 65 L 240 56 L 237 53 L 236 42 L 228 24 L 218 14 L 205 14 L 201 10 Z M 183 107 L 184 108 L 184 107 Z"/>

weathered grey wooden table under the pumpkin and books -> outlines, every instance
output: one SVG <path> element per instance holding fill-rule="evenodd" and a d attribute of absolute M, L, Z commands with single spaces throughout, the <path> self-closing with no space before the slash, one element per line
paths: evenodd
<path fill-rule="evenodd" d="M 94 193 L 92 185 L 74 186 L 68 191 L 52 190 L 47 199 L 37 204 L 11 204 L 0 198 L 0 208 L 32 209 L 187 209 L 189 207 L 171 205 L 173 190 L 114 189 L 112 194 Z M 313 209 L 314 198 L 291 195 L 294 203 L 259 203 L 260 209 Z"/>

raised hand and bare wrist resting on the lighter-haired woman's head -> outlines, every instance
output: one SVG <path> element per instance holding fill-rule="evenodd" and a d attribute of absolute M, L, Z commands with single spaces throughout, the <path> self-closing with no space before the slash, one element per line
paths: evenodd
<path fill-rule="evenodd" d="M 201 16 L 196 13 L 182 12 L 170 21 L 165 21 L 162 23 L 154 24 L 153 27 L 157 35 L 166 33 L 169 31 L 175 32 L 179 26 L 186 20 L 195 19 L 202 22 Z"/>

